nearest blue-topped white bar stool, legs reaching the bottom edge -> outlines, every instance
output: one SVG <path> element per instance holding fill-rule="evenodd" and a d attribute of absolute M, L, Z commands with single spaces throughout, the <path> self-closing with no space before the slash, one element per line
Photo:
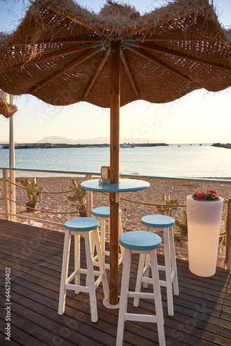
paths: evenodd
<path fill-rule="evenodd" d="M 120 291 L 120 311 L 118 318 L 118 329 L 116 346 L 122 345 L 122 339 L 124 334 L 124 322 L 126 320 L 140 321 L 140 322 L 154 322 L 157 323 L 158 338 L 160 346 L 165 345 L 165 331 L 164 331 L 164 317 L 163 307 L 160 293 L 158 264 L 156 259 L 156 248 L 161 245 L 161 238 L 150 232 L 133 231 L 120 235 L 120 245 L 124 246 L 124 262 L 122 268 L 122 284 Z M 129 291 L 129 274 L 131 265 L 131 254 L 140 254 L 140 263 L 145 263 L 145 254 L 149 254 L 151 257 L 151 273 L 152 282 L 154 287 L 154 293 L 130 292 Z M 142 267 L 139 266 L 141 275 Z M 141 286 L 141 281 L 140 281 Z M 156 307 L 156 315 L 143 315 L 138 313 L 127 313 L 127 298 L 145 298 L 154 299 Z"/>

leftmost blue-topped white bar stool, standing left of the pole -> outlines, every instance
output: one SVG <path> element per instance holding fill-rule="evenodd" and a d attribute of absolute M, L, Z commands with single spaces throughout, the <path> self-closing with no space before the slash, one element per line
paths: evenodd
<path fill-rule="evenodd" d="M 62 260 L 62 275 L 59 291 L 59 315 L 62 315 L 65 310 L 66 290 L 71 289 L 75 293 L 86 292 L 90 296 L 91 321 L 97 322 L 98 312 L 95 296 L 95 288 L 102 282 L 104 297 L 109 299 L 109 286 L 107 283 L 107 275 L 102 261 L 102 254 L 98 233 L 99 221 L 92 217 L 77 217 L 65 222 L 65 237 L 64 237 L 64 253 Z M 91 233 L 93 233 L 96 252 L 98 254 L 98 262 L 100 271 L 93 271 L 93 262 L 91 257 Z M 68 276 L 68 264 L 70 257 L 71 235 L 75 236 L 75 271 Z M 80 267 L 80 235 L 84 236 L 85 251 L 86 251 L 86 269 Z M 80 285 L 80 274 L 88 276 L 89 286 Z M 95 281 L 94 276 L 98 276 Z M 71 281 L 75 278 L 75 284 Z"/>

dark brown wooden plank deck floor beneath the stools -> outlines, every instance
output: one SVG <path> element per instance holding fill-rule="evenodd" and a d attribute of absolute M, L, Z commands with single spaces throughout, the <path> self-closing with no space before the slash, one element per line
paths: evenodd
<path fill-rule="evenodd" d="M 115 345 L 118 309 L 102 304 L 97 291 L 98 317 L 91 322 L 89 296 L 68 291 L 66 311 L 57 314 L 64 234 L 0 220 L 0 345 L 100 346 Z M 163 262 L 163 256 L 158 260 Z M 82 262 L 85 262 L 84 256 Z M 161 288 L 166 345 L 231 345 L 231 282 L 228 271 L 217 268 L 213 277 L 190 273 L 188 262 L 178 260 L 180 295 L 174 296 L 174 316 L 167 315 L 165 289 Z M 73 265 L 73 253 L 71 253 Z M 136 283 L 138 257 L 131 268 L 130 289 Z M 10 267 L 10 335 L 6 340 L 6 268 Z M 120 269 L 121 279 L 121 269 Z M 154 304 L 141 300 L 129 311 L 149 313 Z M 125 322 L 124 345 L 158 345 L 156 325 Z"/>

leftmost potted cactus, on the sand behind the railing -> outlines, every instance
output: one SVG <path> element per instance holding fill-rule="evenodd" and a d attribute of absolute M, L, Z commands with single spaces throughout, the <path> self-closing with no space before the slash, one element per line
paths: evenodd
<path fill-rule="evenodd" d="M 21 183 L 26 188 L 27 196 L 28 196 L 28 202 L 26 202 L 26 211 L 27 212 L 34 212 L 37 203 L 39 202 L 38 199 L 41 199 L 41 190 L 42 188 L 39 188 L 37 185 L 37 179 L 35 178 L 32 183 L 28 181 L 27 178 L 25 180 L 22 179 L 15 179 L 16 183 Z"/>

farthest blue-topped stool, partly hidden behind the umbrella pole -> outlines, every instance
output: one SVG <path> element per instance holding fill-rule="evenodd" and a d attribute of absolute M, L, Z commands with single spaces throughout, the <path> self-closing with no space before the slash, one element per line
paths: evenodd
<path fill-rule="evenodd" d="M 109 226 L 109 235 L 110 235 L 110 207 L 98 207 L 94 208 L 91 211 L 93 217 L 95 219 L 98 219 L 100 221 L 100 242 L 101 242 L 101 248 L 102 248 L 102 259 L 104 261 L 104 266 L 106 269 L 110 268 L 110 265 L 105 263 L 105 256 L 110 257 L 109 251 L 105 251 L 105 226 L 106 226 L 106 221 L 108 221 L 108 226 Z M 121 214 L 122 210 L 119 209 L 119 236 L 122 235 L 122 221 L 121 221 Z M 92 253 L 94 254 L 95 251 L 95 246 L 93 243 L 93 248 L 92 248 Z M 123 257 L 124 256 L 124 249 L 122 246 L 120 247 L 120 253 L 119 253 L 119 265 L 122 263 Z M 97 255 L 93 257 L 93 264 L 94 266 L 98 266 L 98 258 Z"/>

